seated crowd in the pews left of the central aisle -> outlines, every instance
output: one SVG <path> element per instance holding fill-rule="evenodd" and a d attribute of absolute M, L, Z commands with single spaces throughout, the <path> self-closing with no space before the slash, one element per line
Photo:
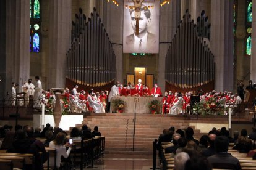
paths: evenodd
<path fill-rule="evenodd" d="M 43 169 L 43 164 L 46 164 L 47 154 L 46 148 L 56 149 L 56 167 L 61 166 L 62 157 L 67 158 L 72 150 L 72 145 L 68 139 L 73 141 L 81 141 L 92 139 L 93 137 L 101 136 L 98 127 L 94 127 L 94 131 L 84 124 L 82 129 L 74 127 L 67 135 L 59 127 L 51 127 L 46 124 L 46 127 L 41 131 L 40 128 L 30 126 L 12 126 L 4 125 L 0 128 L 0 151 L 6 150 L 7 153 L 30 153 L 35 156 L 35 169 Z M 1 153 L 0 153 L 1 154 Z M 2 155 L 1 155 L 2 156 Z M 54 158 L 49 158 L 49 165 L 54 166 Z"/>

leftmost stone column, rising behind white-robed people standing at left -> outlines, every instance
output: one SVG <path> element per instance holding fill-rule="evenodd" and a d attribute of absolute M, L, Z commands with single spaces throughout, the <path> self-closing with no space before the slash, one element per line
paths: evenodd
<path fill-rule="evenodd" d="M 18 92 L 30 72 L 30 1 L 6 1 L 6 69 L 4 83 L 11 91 L 11 83 L 19 84 Z"/>

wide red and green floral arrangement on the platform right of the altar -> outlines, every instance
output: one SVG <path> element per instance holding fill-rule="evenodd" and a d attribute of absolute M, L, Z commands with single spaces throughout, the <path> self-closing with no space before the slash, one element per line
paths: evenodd
<path fill-rule="evenodd" d="M 196 103 L 193 112 L 198 115 L 223 115 L 223 103 L 216 102 L 215 98 L 210 97 L 205 103 Z"/>

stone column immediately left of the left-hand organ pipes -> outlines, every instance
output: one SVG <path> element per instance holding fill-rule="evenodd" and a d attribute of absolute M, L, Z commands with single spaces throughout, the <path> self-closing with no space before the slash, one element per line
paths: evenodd
<path fill-rule="evenodd" d="M 71 0 L 50 0 L 48 88 L 65 87 L 66 52 L 71 41 Z"/>

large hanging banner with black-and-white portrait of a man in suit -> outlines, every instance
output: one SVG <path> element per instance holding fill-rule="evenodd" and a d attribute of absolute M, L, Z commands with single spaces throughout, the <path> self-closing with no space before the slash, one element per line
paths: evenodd
<path fill-rule="evenodd" d="M 134 1 L 124 0 L 124 53 L 158 53 L 159 52 L 159 15 L 160 1 L 142 2 L 139 17 L 139 31 L 136 34 L 136 17 Z M 140 2 L 139 0 L 137 2 Z M 137 17 L 138 18 L 138 17 Z"/>

